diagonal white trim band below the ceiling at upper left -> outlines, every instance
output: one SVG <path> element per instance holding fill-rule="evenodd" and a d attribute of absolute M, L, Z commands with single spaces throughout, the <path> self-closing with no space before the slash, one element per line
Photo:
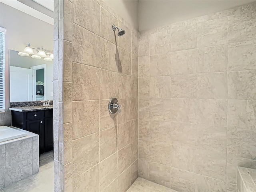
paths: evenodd
<path fill-rule="evenodd" d="M 53 18 L 49 17 L 46 14 L 39 12 L 38 10 L 35 10 L 17 0 L 1 0 L 1 2 L 8 6 L 15 8 L 17 10 L 20 10 L 26 14 L 29 14 L 35 18 L 38 18 L 46 23 L 53 25 Z"/>

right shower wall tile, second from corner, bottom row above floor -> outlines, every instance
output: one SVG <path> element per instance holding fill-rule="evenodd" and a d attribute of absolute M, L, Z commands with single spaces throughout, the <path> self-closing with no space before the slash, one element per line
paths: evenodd
<path fill-rule="evenodd" d="M 160 185 L 170 187 L 170 167 L 150 162 L 149 180 Z"/>

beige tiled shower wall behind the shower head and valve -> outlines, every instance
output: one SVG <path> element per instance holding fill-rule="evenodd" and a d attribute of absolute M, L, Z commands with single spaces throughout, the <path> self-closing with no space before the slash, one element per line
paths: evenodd
<path fill-rule="evenodd" d="M 55 190 L 64 184 L 68 192 L 125 192 L 138 177 L 138 31 L 102 1 L 58 4 L 56 46 L 64 51 L 54 71 L 63 76 L 54 90 L 55 112 L 63 109 L 63 117 L 54 121 L 60 175 Z M 115 35 L 112 24 L 126 34 Z M 108 112 L 112 97 L 120 114 Z"/>

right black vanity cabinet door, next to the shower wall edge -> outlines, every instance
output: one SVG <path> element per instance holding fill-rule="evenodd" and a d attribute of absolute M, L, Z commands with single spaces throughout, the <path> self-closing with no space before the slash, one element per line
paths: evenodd
<path fill-rule="evenodd" d="M 53 118 L 44 119 L 45 152 L 53 150 Z"/>

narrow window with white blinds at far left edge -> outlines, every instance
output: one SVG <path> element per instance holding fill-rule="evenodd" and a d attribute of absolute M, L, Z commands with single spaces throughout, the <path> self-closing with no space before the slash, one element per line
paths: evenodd
<path fill-rule="evenodd" d="M 4 108 L 4 66 L 5 66 L 5 42 L 4 36 L 6 29 L 0 27 L 0 111 L 5 110 Z"/>

